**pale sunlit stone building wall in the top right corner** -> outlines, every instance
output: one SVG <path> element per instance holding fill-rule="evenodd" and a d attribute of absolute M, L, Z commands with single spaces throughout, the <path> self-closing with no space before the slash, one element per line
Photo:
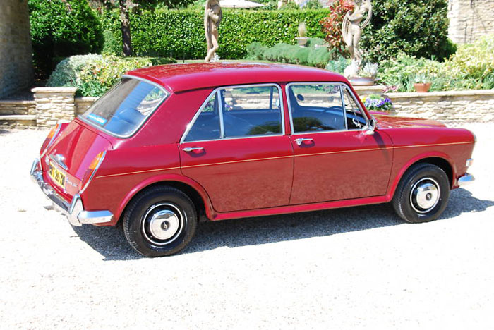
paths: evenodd
<path fill-rule="evenodd" d="M 469 44 L 494 33 L 494 0 L 449 0 L 450 39 Z"/>

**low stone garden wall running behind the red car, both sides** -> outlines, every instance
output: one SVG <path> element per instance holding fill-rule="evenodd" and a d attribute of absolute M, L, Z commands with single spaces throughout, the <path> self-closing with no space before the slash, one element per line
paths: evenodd
<path fill-rule="evenodd" d="M 380 94 L 381 86 L 356 87 L 360 96 Z M 96 97 L 75 97 L 76 88 L 33 88 L 34 101 L 1 101 L 0 127 L 54 126 L 83 114 Z M 385 94 L 393 102 L 392 115 L 447 122 L 494 121 L 494 90 Z"/>

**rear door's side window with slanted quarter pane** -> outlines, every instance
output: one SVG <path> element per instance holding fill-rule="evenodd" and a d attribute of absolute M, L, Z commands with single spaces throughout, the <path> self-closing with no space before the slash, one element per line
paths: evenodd
<path fill-rule="evenodd" d="M 210 96 L 184 142 L 283 133 L 277 85 L 224 87 Z"/>

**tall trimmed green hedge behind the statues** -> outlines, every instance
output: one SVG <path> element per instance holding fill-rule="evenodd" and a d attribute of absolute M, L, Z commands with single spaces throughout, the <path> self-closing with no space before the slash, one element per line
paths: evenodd
<path fill-rule="evenodd" d="M 243 59 L 247 46 L 260 42 L 266 46 L 279 43 L 294 44 L 299 23 L 306 21 L 307 36 L 322 38 L 320 20 L 325 9 L 304 11 L 246 11 L 223 10 L 219 25 L 221 59 Z M 143 11 L 131 15 L 133 51 L 138 56 L 171 56 L 176 59 L 203 59 L 206 38 L 203 11 Z M 101 17 L 104 29 L 121 39 L 118 13 L 112 11 Z"/>

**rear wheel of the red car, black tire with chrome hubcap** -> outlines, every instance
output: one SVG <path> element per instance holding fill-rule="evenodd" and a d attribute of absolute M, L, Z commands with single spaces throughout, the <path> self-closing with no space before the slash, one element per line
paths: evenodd
<path fill-rule="evenodd" d="M 141 255 L 174 255 L 193 238 L 197 219 L 195 206 L 186 194 L 176 188 L 157 186 L 143 191 L 128 205 L 123 215 L 123 232 Z"/>

